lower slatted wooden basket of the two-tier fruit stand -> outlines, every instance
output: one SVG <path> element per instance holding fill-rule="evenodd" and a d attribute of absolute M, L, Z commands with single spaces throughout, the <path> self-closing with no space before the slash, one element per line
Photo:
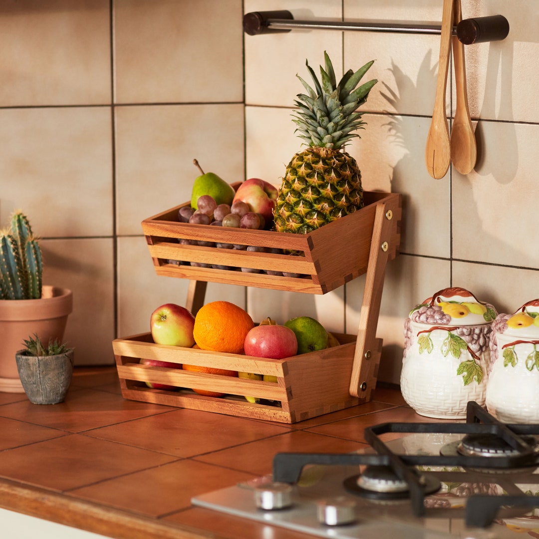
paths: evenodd
<path fill-rule="evenodd" d="M 126 399 L 297 423 L 365 402 L 349 392 L 356 336 L 335 335 L 341 345 L 284 360 L 155 344 L 149 333 L 118 338 L 113 341 L 113 350 Z M 379 350 L 382 340 L 376 341 Z M 275 376 L 277 383 L 144 365 L 142 359 L 254 372 Z M 146 382 L 177 389 L 151 389 Z M 225 396 L 198 395 L 191 388 Z M 247 402 L 245 395 L 258 397 L 260 402 Z"/>

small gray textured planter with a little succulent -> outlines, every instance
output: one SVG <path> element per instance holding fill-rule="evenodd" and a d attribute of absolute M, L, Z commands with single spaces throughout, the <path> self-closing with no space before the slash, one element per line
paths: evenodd
<path fill-rule="evenodd" d="M 73 376 L 73 350 L 57 356 L 15 355 L 20 383 L 33 404 L 63 402 Z"/>

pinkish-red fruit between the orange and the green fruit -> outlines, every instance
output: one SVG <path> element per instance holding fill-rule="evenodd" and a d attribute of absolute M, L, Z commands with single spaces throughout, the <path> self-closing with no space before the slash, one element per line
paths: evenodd
<path fill-rule="evenodd" d="M 244 351 L 248 356 L 282 360 L 296 355 L 298 340 L 294 331 L 285 326 L 255 326 L 245 336 Z"/>

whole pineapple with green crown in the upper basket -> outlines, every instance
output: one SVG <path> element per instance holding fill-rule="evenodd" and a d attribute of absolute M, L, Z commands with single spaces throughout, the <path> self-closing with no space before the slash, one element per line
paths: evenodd
<path fill-rule="evenodd" d="M 349 70 L 338 84 L 326 52 L 324 60 L 321 83 L 307 61 L 314 89 L 296 75 L 309 95 L 298 94 L 293 122 L 308 148 L 292 157 L 282 178 L 274 210 L 279 232 L 307 233 L 363 207 L 361 171 L 343 148 L 365 124 L 356 110 L 377 80 L 356 86 L 374 60 Z"/>

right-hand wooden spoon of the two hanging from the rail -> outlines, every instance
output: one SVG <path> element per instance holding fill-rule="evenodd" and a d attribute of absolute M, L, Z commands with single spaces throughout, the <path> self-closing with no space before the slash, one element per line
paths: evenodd
<path fill-rule="evenodd" d="M 462 17 L 460 0 L 454 0 L 453 10 L 455 24 L 458 24 Z M 453 36 L 453 63 L 455 65 L 455 84 L 457 85 L 457 108 L 451 128 L 451 162 L 460 174 L 466 175 L 475 167 L 477 146 L 468 110 L 464 45 L 457 36 Z"/>

